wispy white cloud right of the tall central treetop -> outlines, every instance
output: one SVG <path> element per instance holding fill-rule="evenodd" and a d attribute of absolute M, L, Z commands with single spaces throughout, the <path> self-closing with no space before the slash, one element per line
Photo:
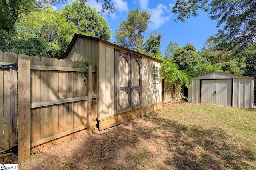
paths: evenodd
<path fill-rule="evenodd" d="M 165 15 L 166 10 L 169 10 L 167 6 L 158 4 L 156 8 L 151 9 L 151 18 L 149 29 L 154 30 L 162 26 L 165 22 L 169 21 L 172 14 Z"/>

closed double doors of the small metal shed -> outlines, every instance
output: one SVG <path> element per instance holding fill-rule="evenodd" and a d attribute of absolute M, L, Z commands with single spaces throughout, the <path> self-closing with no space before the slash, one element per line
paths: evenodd
<path fill-rule="evenodd" d="M 232 79 L 201 81 L 201 103 L 232 106 Z"/>

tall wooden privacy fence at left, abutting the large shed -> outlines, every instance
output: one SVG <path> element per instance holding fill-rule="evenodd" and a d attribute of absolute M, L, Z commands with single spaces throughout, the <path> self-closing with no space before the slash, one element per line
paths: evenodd
<path fill-rule="evenodd" d="M 16 54 L 6 52 L 3 56 L 10 58 L 9 56 L 16 56 Z M 3 61 L 5 62 L 5 60 Z M 12 63 L 13 61 L 8 62 Z M 2 65 L 4 65 L 3 62 Z M 29 57 L 20 54 L 18 56 L 18 81 L 16 83 L 15 80 L 6 80 L 10 78 L 5 75 L 14 74 L 15 79 L 17 73 L 11 73 L 14 72 L 11 71 L 12 69 L 1 68 L 3 71 L 0 72 L 0 85 L 1 83 L 10 85 L 4 86 L 3 91 L 5 93 L 3 95 L 0 91 L 0 97 L 3 96 L 2 98 L 4 98 L 4 100 L 0 98 L 0 102 L 4 101 L 1 103 L 6 106 L 8 104 L 6 101 L 10 98 L 13 107 L 15 103 L 18 103 L 18 162 L 30 158 L 30 149 L 57 144 L 59 141 L 83 133 L 86 128 L 88 134 L 92 133 L 92 126 L 96 124 L 97 118 L 96 69 L 94 65 L 88 64 L 88 83 L 86 85 L 84 83 L 85 73 L 82 70 L 84 65 L 83 62 L 37 56 Z M 1 79 L 2 74 L 4 80 Z M 16 87 L 17 82 L 18 102 L 12 102 L 10 94 L 13 93 L 12 96 L 14 96 L 17 92 L 16 88 L 9 90 L 10 94 L 5 89 L 11 86 Z M 4 107 L 4 111 L 1 111 L 0 104 L 0 116 L 4 116 L 4 122 L 7 122 L 7 117 L 10 120 L 12 118 L 13 122 L 16 121 L 17 119 L 14 117 L 17 115 L 16 112 L 10 113 L 15 108 L 10 109 L 9 115 L 7 115 L 8 109 Z M 7 126 L 10 125 L 1 127 Z M 4 130 L 3 132 L 5 132 Z M 17 130 L 10 129 L 10 133 L 11 131 L 17 132 Z M 3 138 L 11 143 L 12 140 L 8 139 L 10 134 L 8 136 L 0 135 L 0 140 Z M 14 145 L 16 144 L 17 140 L 14 142 Z M 9 148 L 12 145 L 10 144 Z M 2 150 L 6 149 L 8 148 L 2 147 Z"/>

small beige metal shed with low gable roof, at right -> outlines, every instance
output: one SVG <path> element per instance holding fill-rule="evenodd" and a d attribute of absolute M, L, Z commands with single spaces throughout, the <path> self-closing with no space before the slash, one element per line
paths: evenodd
<path fill-rule="evenodd" d="M 189 102 L 253 108 L 254 78 L 212 72 L 192 79 Z"/>

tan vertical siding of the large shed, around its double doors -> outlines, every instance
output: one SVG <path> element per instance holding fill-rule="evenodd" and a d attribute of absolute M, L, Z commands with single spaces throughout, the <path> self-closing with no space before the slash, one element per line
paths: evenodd
<path fill-rule="evenodd" d="M 82 38 L 82 46 L 76 48 L 76 43 L 74 43 L 67 57 L 73 61 L 91 62 L 97 66 L 97 110 L 99 120 L 114 116 L 115 114 L 114 48 L 120 49 L 120 47 L 114 44 Z M 122 48 L 122 50 L 131 52 L 125 48 Z M 142 107 L 146 107 L 162 102 L 160 82 L 152 83 L 152 66 L 157 66 L 159 69 L 160 63 L 145 56 L 143 56 L 142 60 L 142 74 L 144 75 L 142 79 Z"/>

